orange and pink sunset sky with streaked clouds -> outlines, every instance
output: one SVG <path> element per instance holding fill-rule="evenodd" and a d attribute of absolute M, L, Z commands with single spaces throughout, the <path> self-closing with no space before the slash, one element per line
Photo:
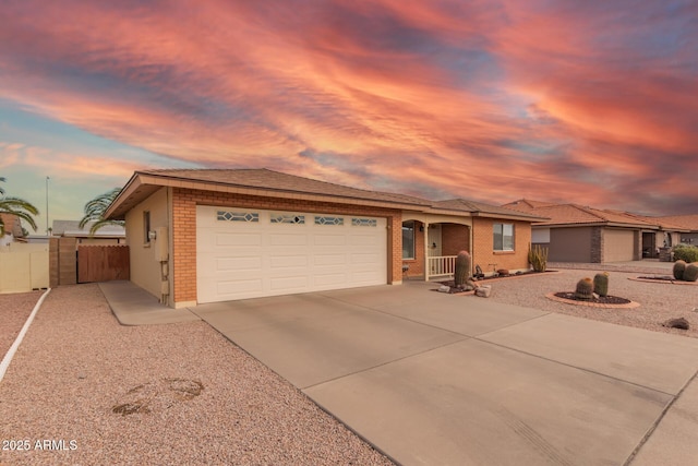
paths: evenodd
<path fill-rule="evenodd" d="M 0 177 L 49 218 L 143 168 L 698 213 L 698 2 L 2 1 Z"/>

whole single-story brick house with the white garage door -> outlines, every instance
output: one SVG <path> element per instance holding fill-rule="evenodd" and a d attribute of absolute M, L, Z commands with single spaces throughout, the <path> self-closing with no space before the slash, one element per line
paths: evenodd
<path fill-rule="evenodd" d="M 528 270 L 543 219 L 267 169 L 136 171 L 106 218 L 125 219 L 131 280 L 178 308 L 446 277 L 464 249 L 473 267 Z"/>

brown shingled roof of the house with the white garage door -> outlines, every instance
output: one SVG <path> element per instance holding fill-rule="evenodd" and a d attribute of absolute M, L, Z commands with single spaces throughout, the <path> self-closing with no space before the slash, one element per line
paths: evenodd
<path fill-rule="evenodd" d="M 467 201 L 430 201 L 407 194 L 370 191 L 279 171 L 261 169 L 161 169 L 133 174 L 107 210 L 107 218 L 123 218 L 139 202 L 161 187 L 202 189 L 238 194 L 292 198 L 309 201 L 372 205 L 410 211 L 444 211 L 470 215 L 540 220 L 540 216 L 497 205 Z"/>

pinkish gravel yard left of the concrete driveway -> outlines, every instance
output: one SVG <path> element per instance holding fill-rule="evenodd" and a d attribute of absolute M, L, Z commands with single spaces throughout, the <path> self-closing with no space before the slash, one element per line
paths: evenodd
<path fill-rule="evenodd" d="M 3 465 L 392 464 L 206 323 L 121 326 L 96 285 L 50 292 L 0 419 Z"/>

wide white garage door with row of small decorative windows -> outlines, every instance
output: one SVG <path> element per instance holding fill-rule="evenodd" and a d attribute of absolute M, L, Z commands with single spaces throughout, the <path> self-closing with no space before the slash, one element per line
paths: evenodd
<path fill-rule="evenodd" d="M 198 302 L 383 285 L 386 219 L 196 207 Z"/>

